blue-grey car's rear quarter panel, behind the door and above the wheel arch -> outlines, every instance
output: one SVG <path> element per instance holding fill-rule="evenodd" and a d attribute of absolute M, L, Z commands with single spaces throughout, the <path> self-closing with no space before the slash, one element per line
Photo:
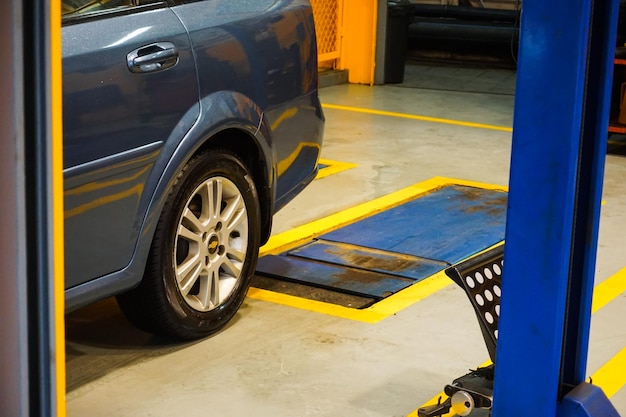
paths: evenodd
<path fill-rule="evenodd" d="M 293 198 L 291 190 L 310 181 L 310 172 L 298 167 L 316 166 L 321 149 L 323 116 L 312 94 L 317 44 L 308 36 L 315 30 L 308 1 L 257 0 L 241 7 L 233 0 L 211 0 L 172 10 L 194 46 L 200 95 L 238 91 L 263 109 L 275 150 L 275 198 L 283 202 L 275 210 L 280 209 Z M 211 21 L 215 26 L 207 30 Z"/>

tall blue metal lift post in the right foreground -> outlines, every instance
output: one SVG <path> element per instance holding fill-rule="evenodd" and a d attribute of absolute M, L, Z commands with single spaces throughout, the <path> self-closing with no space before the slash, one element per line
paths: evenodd
<path fill-rule="evenodd" d="M 617 416 L 585 383 L 618 0 L 524 0 L 494 417 Z"/>

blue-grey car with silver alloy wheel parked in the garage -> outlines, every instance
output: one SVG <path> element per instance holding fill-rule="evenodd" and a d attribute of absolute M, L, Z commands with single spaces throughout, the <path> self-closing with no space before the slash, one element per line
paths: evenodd
<path fill-rule="evenodd" d="M 194 339 L 317 172 L 308 0 L 62 0 L 66 306 Z"/>

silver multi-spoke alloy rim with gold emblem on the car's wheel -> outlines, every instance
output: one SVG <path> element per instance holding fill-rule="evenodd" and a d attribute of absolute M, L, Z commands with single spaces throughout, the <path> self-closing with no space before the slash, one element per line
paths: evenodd
<path fill-rule="evenodd" d="M 248 247 L 248 212 L 243 195 L 225 177 L 203 181 L 178 220 L 174 274 L 193 309 L 206 312 L 224 303 L 241 279 Z"/>

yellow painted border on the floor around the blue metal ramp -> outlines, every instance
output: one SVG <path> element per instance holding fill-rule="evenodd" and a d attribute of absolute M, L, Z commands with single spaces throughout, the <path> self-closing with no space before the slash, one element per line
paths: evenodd
<path fill-rule="evenodd" d="M 376 213 L 380 213 L 381 211 L 396 207 L 405 202 L 414 200 L 448 185 L 465 185 L 483 189 L 506 191 L 506 187 L 498 185 L 464 181 L 454 178 L 435 177 L 430 180 L 414 184 L 395 193 L 388 194 L 323 219 L 316 220 L 287 232 L 272 236 L 270 240 L 261 248 L 259 256 L 277 254 L 292 249 L 317 236 L 372 216 Z M 379 301 L 371 307 L 362 310 L 337 306 L 335 304 L 320 301 L 312 301 L 305 298 L 261 290 L 258 288 L 250 288 L 248 291 L 248 297 L 300 308 L 303 310 L 315 311 L 335 317 L 366 323 L 376 323 L 434 294 L 451 283 L 452 281 L 445 276 L 443 271 L 441 271 L 397 292 L 392 296 L 385 298 L 382 301 Z"/>

